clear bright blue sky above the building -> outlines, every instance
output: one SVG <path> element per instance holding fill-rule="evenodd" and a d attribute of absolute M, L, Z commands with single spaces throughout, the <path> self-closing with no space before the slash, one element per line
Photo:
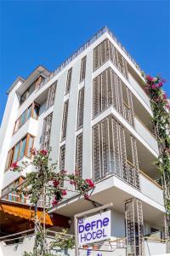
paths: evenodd
<path fill-rule="evenodd" d="M 5 92 L 38 65 L 53 71 L 108 26 L 145 73 L 161 73 L 170 96 L 170 1 L 0 0 L 0 123 Z"/>

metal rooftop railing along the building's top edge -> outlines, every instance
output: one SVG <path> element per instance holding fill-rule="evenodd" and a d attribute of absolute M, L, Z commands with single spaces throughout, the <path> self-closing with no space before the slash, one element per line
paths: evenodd
<path fill-rule="evenodd" d="M 105 32 L 108 32 L 113 38 L 113 40 L 118 44 L 118 46 L 122 49 L 122 51 L 127 55 L 127 57 L 133 62 L 134 66 L 139 69 L 139 72 L 141 73 L 142 71 L 140 70 L 139 66 L 137 65 L 136 61 L 133 60 L 133 57 L 127 53 L 127 50 L 122 46 L 122 44 L 117 40 L 117 38 L 114 36 L 114 34 L 109 30 L 107 26 L 103 27 L 102 29 L 97 32 L 93 38 L 90 38 L 88 42 L 83 44 L 77 51 L 68 57 L 59 67 L 57 67 L 54 70 L 54 73 L 51 73 L 46 79 L 42 81 L 41 84 L 39 84 L 39 87 L 37 90 L 40 90 L 44 84 L 47 84 L 48 81 L 54 78 L 55 75 L 57 75 L 59 72 L 61 72 L 71 61 L 73 61 L 78 55 L 80 55 L 85 49 L 88 48 L 91 44 L 93 44 L 98 38 L 100 38 Z"/>

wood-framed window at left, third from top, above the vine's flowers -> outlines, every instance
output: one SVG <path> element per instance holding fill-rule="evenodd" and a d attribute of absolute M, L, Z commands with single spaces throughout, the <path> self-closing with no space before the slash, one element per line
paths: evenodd
<path fill-rule="evenodd" d="M 8 151 L 8 156 L 6 160 L 5 170 L 7 171 L 10 166 L 22 159 L 24 156 L 31 157 L 31 148 L 33 148 L 34 137 L 32 137 L 29 133 L 26 137 L 23 137 L 19 143 L 17 143 L 14 148 L 11 148 Z"/>

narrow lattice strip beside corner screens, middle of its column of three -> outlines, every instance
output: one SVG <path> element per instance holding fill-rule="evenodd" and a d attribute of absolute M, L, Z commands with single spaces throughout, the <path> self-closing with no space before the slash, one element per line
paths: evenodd
<path fill-rule="evenodd" d="M 84 111 L 84 88 L 79 90 L 78 111 L 77 111 L 77 129 L 82 127 L 82 124 L 83 124 L 83 111 Z"/>

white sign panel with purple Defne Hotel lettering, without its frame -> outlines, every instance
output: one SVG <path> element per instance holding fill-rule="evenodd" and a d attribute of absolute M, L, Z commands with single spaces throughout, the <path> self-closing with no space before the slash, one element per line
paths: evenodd
<path fill-rule="evenodd" d="M 78 219 L 78 245 L 111 238 L 111 211 Z"/>

